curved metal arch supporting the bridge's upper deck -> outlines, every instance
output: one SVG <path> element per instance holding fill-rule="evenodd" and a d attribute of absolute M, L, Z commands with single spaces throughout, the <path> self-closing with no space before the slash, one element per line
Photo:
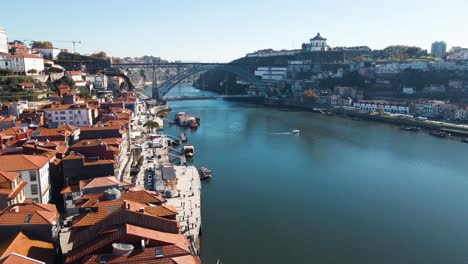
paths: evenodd
<path fill-rule="evenodd" d="M 260 82 L 259 79 L 248 70 L 234 65 L 196 65 L 190 67 L 183 72 L 172 76 L 171 78 L 164 81 L 158 87 L 153 88 L 153 98 L 155 97 L 155 93 L 158 95 L 157 97 L 165 96 L 169 90 L 175 87 L 177 84 L 182 82 L 183 80 L 187 79 L 188 77 L 203 72 L 203 71 L 210 71 L 210 70 L 220 70 L 233 73 L 240 78 L 244 79 L 247 82 L 258 84 Z"/>

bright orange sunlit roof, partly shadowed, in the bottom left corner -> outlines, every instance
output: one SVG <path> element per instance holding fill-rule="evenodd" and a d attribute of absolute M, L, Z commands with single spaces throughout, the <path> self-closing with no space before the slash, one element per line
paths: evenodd
<path fill-rule="evenodd" d="M 33 240 L 19 232 L 0 244 L 0 258 L 17 253 L 46 263 L 54 260 L 54 245 L 41 240 Z"/>

